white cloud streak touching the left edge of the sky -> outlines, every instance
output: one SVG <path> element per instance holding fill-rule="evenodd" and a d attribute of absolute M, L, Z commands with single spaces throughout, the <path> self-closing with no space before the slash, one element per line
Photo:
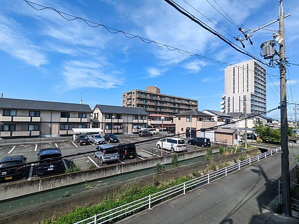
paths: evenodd
<path fill-rule="evenodd" d="M 45 54 L 29 40 L 18 23 L 0 14 L 0 50 L 39 67 L 47 63 Z"/>

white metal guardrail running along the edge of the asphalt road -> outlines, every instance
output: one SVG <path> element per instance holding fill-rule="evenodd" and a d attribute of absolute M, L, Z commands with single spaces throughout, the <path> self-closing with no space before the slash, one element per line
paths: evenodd
<path fill-rule="evenodd" d="M 192 180 L 178 184 L 176 186 L 165 189 L 163 191 L 160 191 L 155 194 L 149 195 L 147 197 L 138 199 L 134 202 L 130 202 L 126 205 L 122 205 L 115 209 L 103 212 L 101 214 L 97 214 L 95 216 L 92 216 L 88 219 L 77 222 L 75 224 L 102 224 L 102 223 L 107 223 L 114 219 L 120 218 L 127 214 L 130 214 L 136 210 L 140 210 L 143 207 L 148 207 L 150 209 L 153 206 L 152 204 L 156 205 L 159 202 L 161 202 L 161 200 L 164 198 L 167 198 L 174 194 L 181 194 L 181 193 L 185 194 L 186 191 L 189 189 L 193 189 L 195 187 L 201 187 L 205 184 L 209 184 L 210 182 L 215 181 L 216 179 L 218 179 L 220 177 L 227 176 L 228 174 L 230 174 L 232 172 L 240 170 L 241 167 L 251 165 L 252 163 L 258 162 L 261 159 L 265 159 L 265 158 L 277 153 L 280 150 L 281 150 L 281 147 L 267 151 L 260 155 L 251 157 L 249 159 L 246 159 L 241 162 L 235 163 L 233 165 L 219 169 L 217 171 L 208 173 L 204 176 L 194 178 Z"/>

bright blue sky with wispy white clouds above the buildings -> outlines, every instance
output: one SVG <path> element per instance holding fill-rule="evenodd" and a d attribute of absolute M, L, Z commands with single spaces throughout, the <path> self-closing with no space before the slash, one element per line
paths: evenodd
<path fill-rule="evenodd" d="M 57 10 L 138 34 L 180 49 L 231 64 L 250 60 L 187 19 L 163 0 L 32 0 Z M 240 35 L 206 0 L 186 0 L 233 36 Z M 176 0 L 219 33 L 237 43 L 183 0 Z M 210 0 L 215 6 L 214 1 Z M 278 18 L 279 0 L 217 0 L 245 29 L 258 28 Z M 6 98 L 118 105 L 122 93 L 157 85 L 161 93 L 197 99 L 199 110 L 220 110 L 224 93 L 224 65 L 196 59 L 83 21 L 66 21 L 52 10 L 37 11 L 22 0 L 0 2 L 0 93 Z M 221 10 L 221 9 L 219 9 Z M 299 63 L 299 4 L 285 0 L 287 56 Z M 278 30 L 278 23 L 267 27 Z M 256 32 L 252 41 L 272 39 L 273 31 Z M 254 54 L 246 43 L 246 50 Z M 267 68 L 279 74 L 278 68 Z M 289 100 L 299 103 L 299 67 L 289 67 Z M 267 110 L 279 105 L 279 79 L 267 77 Z M 290 85 L 291 84 L 291 85 Z M 291 91 L 292 89 L 292 91 Z M 294 116 L 290 107 L 289 117 Z M 279 111 L 270 115 L 279 117 Z"/>

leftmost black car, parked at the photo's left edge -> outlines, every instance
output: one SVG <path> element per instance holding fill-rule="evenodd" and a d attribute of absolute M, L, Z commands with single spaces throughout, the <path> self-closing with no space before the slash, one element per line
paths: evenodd
<path fill-rule="evenodd" d="M 23 155 L 6 156 L 0 160 L 0 181 L 14 180 L 23 177 L 26 157 Z M 18 165 L 19 166 L 15 166 Z M 8 168 L 9 166 L 15 166 Z M 7 167 L 7 168 L 5 168 Z M 3 169 L 2 169 L 3 168 Z"/>

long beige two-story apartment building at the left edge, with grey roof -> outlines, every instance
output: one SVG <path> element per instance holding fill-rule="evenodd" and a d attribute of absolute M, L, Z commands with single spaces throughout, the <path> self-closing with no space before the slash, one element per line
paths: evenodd
<path fill-rule="evenodd" d="M 72 135 L 90 127 L 88 105 L 0 98 L 0 138 Z"/>

